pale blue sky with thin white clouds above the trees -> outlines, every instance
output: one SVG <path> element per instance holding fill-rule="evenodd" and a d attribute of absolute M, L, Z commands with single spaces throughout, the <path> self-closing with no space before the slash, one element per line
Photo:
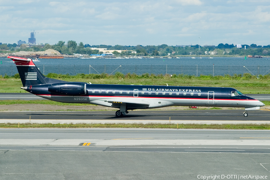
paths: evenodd
<path fill-rule="evenodd" d="M 270 44 L 270 0 L 0 0 L 0 43 Z M 200 37 L 200 38 L 199 38 Z"/>

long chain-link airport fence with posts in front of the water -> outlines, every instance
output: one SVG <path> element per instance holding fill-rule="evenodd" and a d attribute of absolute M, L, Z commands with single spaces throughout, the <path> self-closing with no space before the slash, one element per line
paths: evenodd
<path fill-rule="evenodd" d="M 201 65 L 60 65 L 60 64 L 43 64 L 38 66 L 41 73 L 57 73 L 76 75 L 78 73 L 94 73 L 94 74 L 115 74 L 120 72 L 123 74 L 135 73 L 138 75 L 149 74 L 184 74 L 184 75 L 211 75 L 211 76 L 224 76 L 229 74 L 244 74 L 250 73 L 252 75 L 265 75 L 270 73 L 270 66 L 201 66 Z M 13 76 L 18 73 L 15 64 L 3 65 L 0 64 L 0 75 Z"/>

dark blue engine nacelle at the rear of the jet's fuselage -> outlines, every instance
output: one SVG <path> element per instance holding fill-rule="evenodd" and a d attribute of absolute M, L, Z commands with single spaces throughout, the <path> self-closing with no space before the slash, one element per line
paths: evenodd
<path fill-rule="evenodd" d="M 87 93 L 86 84 L 82 82 L 61 82 L 50 84 L 48 91 L 61 95 L 79 96 Z"/>

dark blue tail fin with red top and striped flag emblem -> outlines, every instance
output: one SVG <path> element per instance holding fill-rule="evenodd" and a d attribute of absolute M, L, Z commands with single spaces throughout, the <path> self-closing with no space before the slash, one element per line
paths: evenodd
<path fill-rule="evenodd" d="M 23 87 L 30 85 L 66 82 L 45 77 L 30 58 L 26 59 L 13 56 L 7 56 L 7 58 L 11 59 L 16 64 Z"/>

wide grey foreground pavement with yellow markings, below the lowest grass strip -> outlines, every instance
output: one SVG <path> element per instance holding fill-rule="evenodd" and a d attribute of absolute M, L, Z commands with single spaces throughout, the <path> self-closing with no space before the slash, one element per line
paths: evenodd
<path fill-rule="evenodd" d="M 269 132 L 1 129 L 0 179 L 178 180 L 209 175 L 221 179 L 232 174 L 237 175 L 236 179 L 238 175 L 239 179 L 246 175 L 269 177 Z"/>

